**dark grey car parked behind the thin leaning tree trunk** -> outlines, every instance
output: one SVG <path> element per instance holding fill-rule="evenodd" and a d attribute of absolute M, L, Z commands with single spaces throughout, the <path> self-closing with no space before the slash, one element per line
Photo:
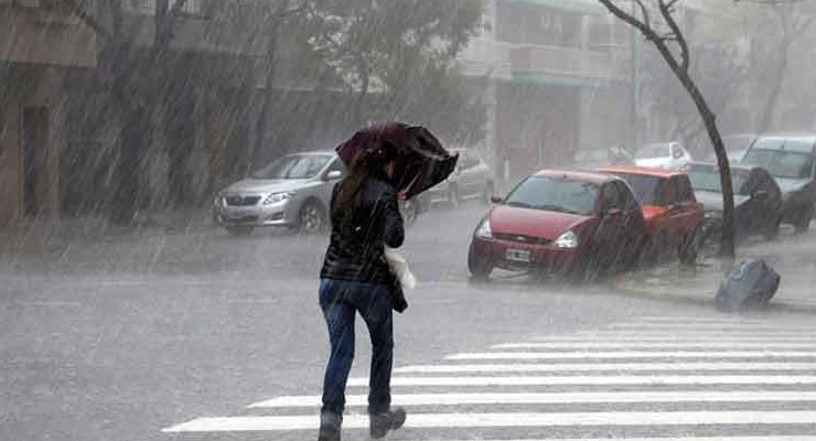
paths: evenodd
<path fill-rule="evenodd" d="M 704 223 L 707 239 L 722 232 L 722 185 L 715 164 L 692 163 L 686 169 L 697 200 L 706 205 Z M 773 239 L 780 232 L 782 192 L 771 174 L 760 166 L 731 165 L 734 223 L 738 237 L 763 235 Z"/>

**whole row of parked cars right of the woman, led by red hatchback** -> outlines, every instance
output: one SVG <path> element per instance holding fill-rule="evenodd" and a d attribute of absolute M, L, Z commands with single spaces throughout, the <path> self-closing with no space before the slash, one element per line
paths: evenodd
<path fill-rule="evenodd" d="M 807 230 L 816 201 L 816 136 L 755 137 L 734 153 L 742 160 L 731 168 L 738 237 L 773 239 L 782 223 Z M 494 197 L 473 233 L 471 273 L 592 278 L 665 257 L 694 262 L 705 240 L 721 233 L 718 166 L 692 162 L 673 143 L 648 146 L 637 158 L 649 166 L 543 170 L 507 197 Z"/>

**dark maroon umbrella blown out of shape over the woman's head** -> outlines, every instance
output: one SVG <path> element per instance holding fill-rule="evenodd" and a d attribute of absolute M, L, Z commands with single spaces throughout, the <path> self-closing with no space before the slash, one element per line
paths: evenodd
<path fill-rule="evenodd" d="M 457 166 L 459 154 L 451 154 L 442 143 L 420 126 L 386 122 L 357 131 L 335 149 L 346 166 L 357 154 L 387 141 L 397 148 L 394 181 L 397 191 L 411 198 L 448 179 Z"/>

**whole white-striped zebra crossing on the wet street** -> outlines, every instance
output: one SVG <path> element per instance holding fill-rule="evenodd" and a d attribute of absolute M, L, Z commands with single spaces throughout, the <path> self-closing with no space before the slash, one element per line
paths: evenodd
<path fill-rule="evenodd" d="M 348 380 L 345 440 L 367 439 L 367 385 Z M 408 411 L 393 440 L 816 441 L 816 325 L 641 318 L 397 367 L 391 387 Z M 163 431 L 311 439 L 319 408 L 275 397 Z"/>

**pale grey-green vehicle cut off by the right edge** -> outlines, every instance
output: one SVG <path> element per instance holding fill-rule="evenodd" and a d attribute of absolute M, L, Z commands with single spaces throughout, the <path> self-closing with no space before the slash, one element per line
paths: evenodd
<path fill-rule="evenodd" d="M 758 138 L 742 164 L 758 165 L 776 180 L 782 190 L 782 222 L 796 233 L 810 227 L 816 201 L 816 136 L 772 135 Z"/>

